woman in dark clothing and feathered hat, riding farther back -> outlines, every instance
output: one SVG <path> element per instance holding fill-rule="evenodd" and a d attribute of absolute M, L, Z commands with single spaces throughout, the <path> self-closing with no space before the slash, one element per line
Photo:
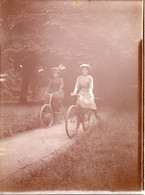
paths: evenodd
<path fill-rule="evenodd" d="M 58 110 L 62 100 L 64 99 L 64 82 L 63 78 L 60 76 L 61 71 L 64 69 L 65 67 L 62 65 L 51 69 L 53 78 L 50 79 L 48 87 L 46 88 L 47 93 L 54 93 L 52 97 L 52 108 L 54 111 Z"/>

